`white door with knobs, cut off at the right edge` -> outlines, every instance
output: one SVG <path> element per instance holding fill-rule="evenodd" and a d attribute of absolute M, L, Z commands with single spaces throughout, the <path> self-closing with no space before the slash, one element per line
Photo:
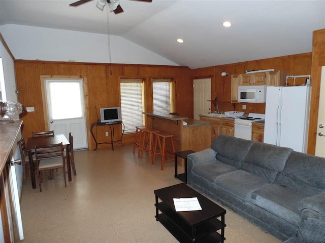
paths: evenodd
<path fill-rule="evenodd" d="M 325 157 L 325 66 L 321 68 L 315 155 Z"/>

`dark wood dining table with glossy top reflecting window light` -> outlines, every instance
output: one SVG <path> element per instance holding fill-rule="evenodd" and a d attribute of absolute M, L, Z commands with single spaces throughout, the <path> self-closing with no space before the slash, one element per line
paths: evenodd
<path fill-rule="evenodd" d="M 34 168 L 33 158 L 32 158 L 32 154 L 35 152 L 35 146 L 44 146 L 44 145 L 51 145 L 51 144 L 58 144 L 58 143 L 62 143 L 63 147 L 66 148 L 68 179 L 69 179 L 69 181 L 72 180 L 71 164 L 70 164 L 70 143 L 69 143 L 69 140 L 66 138 L 66 136 L 64 136 L 64 134 L 55 134 L 54 137 L 52 137 L 52 136 L 30 137 L 30 138 L 27 138 L 26 151 L 28 152 L 30 178 L 31 178 L 32 188 L 34 188 L 34 189 L 36 188 L 35 174 L 34 174 L 34 169 L 33 169 Z"/>

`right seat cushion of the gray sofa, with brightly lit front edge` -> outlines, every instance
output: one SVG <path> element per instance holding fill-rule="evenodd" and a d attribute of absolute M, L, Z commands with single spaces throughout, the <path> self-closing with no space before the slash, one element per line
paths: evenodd
<path fill-rule="evenodd" d="M 278 216 L 285 221 L 299 226 L 301 223 L 298 209 L 301 198 L 306 194 L 291 188 L 272 184 L 252 193 L 252 204 Z"/>

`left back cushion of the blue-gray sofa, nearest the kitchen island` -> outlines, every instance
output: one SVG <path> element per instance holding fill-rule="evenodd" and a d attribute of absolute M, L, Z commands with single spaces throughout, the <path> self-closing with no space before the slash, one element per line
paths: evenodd
<path fill-rule="evenodd" d="M 219 135 L 213 141 L 211 148 L 217 152 L 217 160 L 239 169 L 253 143 L 246 139 Z"/>

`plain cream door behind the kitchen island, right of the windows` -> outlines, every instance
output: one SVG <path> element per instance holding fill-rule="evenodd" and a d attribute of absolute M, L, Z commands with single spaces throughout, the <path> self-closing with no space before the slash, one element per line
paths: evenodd
<path fill-rule="evenodd" d="M 193 97 L 193 118 L 199 120 L 200 114 L 211 112 L 211 78 L 193 80 Z"/>

